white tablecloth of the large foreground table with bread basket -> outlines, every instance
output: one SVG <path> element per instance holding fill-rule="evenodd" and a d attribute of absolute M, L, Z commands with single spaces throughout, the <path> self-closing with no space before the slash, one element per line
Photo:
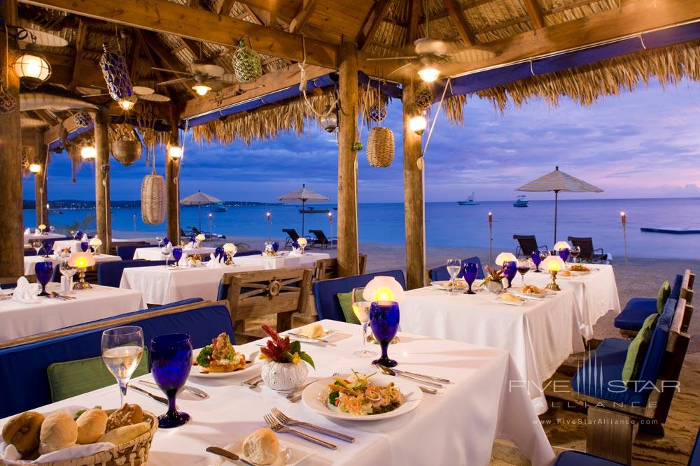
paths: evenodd
<path fill-rule="evenodd" d="M 369 358 L 352 356 L 358 345 L 358 326 L 335 321 L 321 323 L 326 328 L 342 330 L 342 335 L 338 335 L 339 341 L 334 346 L 302 344 L 316 362 L 316 370 L 309 368 L 310 378 L 328 377 L 335 371 L 349 372 L 351 367 L 360 372 L 374 371 Z M 214 459 L 205 453 L 207 446 L 225 446 L 244 439 L 251 431 L 265 426 L 262 416 L 275 406 L 290 417 L 356 437 L 356 442 L 350 444 L 301 429 L 338 446 L 337 450 L 330 450 L 292 435 L 279 434 L 284 444 L 314 453 L 302 462 L 304 466 L 485 466 L 489 464 L 495 437 L 511 439 L 535 466 L 552 464 L 552 447 L 526 394 L 508 389 L 508 381 L 519 375 L 505 351 L 416 335 L 400 334 L 400 338 L 400 344 L 389 348 L 400 368 L 453 381 L 438 395 L 425 394 L 413 412 L 384 421 L 332 421 L 310 412 L 302 402 L 288 402 L 264 385 L 256 390 L 239 385 L 252 377 L 248 374 L 207 381 L 193 377 L 188 384 L 206 391 L 210 398 L 202 400 L 188 393 L 178 398 L 179 409 L 192 419 L 179 428 L 155 432 L 148 465 L 207 465 L 208 459 Z M 245 354 L 256 349 L 255 343 L 243 348 Z M 151 375 L 145 375 L 144 379 L 151 379 Z M 142 388 L 160 394 L 157 388 Z M 118 399 L 118 388 L 110 386 L 37 411 L 48 413 L 69 405 L 111 408 L 116 407 Z M 139 403 L 155 414 L 166 410 L 165 406 L 132 390 L 127 392 L 126 401 Z"/>

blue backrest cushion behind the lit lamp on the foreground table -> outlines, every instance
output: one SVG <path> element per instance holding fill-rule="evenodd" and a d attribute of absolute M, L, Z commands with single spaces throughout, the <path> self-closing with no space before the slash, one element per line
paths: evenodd
<path fill-rule="evenodd" d="M 338 300 L 338 293 L 347 293 L 353 288 L 362 288 L 374 277 L 386 275 L 394 277 L 403 289 L 406 289 L 406 280 L 402 270 L 386 270 L 384 272 L 365 273 L 365 275 L 354 275 L 353 277 L 341 277 L 330 280 L 314 282 L 314 300 L 316 300 L 316 312 L 318 319 L 331 319 L 334 321 L 345 321 L 342 307 Z"/>

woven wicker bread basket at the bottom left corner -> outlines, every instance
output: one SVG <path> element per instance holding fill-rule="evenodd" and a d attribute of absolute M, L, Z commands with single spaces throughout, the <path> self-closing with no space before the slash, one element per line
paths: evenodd
<path fill-rule="evenodd" d="M 114 409 L 108 409 L 111 414 Z M 46 466 L 140 466 L 148 460 L 148 451 L 155 431 L 158 430 L 158 418 L 144 411 L 144 421 L 151 423 L 151 430 L 133 439 L 131 442 L 115 446 L 111 450 L 100 451 L 94 455 L 73 458 L 71 460 L 41 463 Z"/>

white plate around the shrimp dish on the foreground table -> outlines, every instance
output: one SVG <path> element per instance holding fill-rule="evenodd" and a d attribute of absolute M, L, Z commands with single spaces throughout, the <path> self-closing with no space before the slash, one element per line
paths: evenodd
<path fill-rule="evenodd" d="M 347 379 L 351 377 L 351 374 L 344 374 L 341 377 Z M 374 374 L 370 380 L 374 382 L 374 384 L 381 386 L 386 386 L 393 382 L 394 386 L 404 395 L 403 404 L 388 413 L 372 414 L 370 416 L 355 416 L 354 414 L 340 412 L 337 407 L 328 404 L 328 393 L 330 393 L 328 384 L 332 384 L 335 381 L 332 377 L 317 380 L 307 386 L 307 388 L 304 388 L 302 392 L 302 402 L 307 408 L 311 409 L 311 411 L 329 418 L 346 419 L 349 421 L 379 421 L 380 419 L 395 418 L 396 416 L 402 416 L 403 414 L 412 412 L 421 404 L 421 401 L 423 401 L 423 392 L 421 388 L 412 381 L 384 374 Z"/>

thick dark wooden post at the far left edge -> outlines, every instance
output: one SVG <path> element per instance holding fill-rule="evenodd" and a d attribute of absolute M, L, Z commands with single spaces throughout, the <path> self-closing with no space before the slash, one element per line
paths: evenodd
<path fill-rule="evenodd" d="M 0 6 L 6 24 L 18 24 L 17 1 Z M 6 49 L 6 34 L 0 34 L 0 50 Z M 11 45 L 11 44 L 10 44 Z M 20 80 L 10 71 L 14 47 L 0 53 L 0 73 L 6 77 L 6 92 L 17 102 L 12 112 L 0 115 L 0 277 L 20 277 L 25 272 L 22 219 L 22 133 L 20 129 Z"/>

